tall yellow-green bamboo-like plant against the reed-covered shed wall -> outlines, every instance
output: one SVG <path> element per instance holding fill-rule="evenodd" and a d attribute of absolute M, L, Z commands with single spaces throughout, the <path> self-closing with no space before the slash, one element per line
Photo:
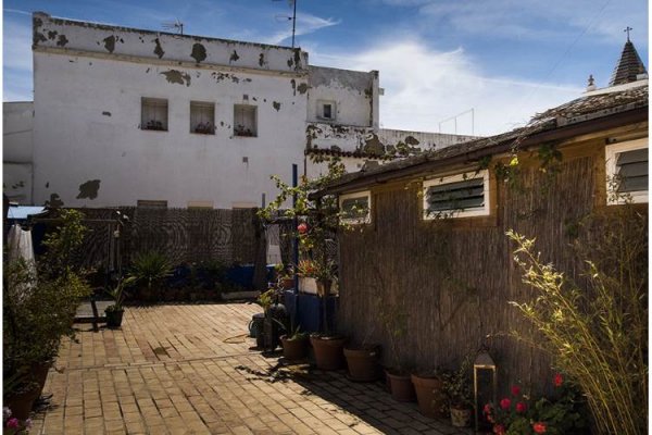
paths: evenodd
<path fill-rule="evenodd" d="M 537 291 L 511 303 L 543 336 L 525 339 L 577 382 L 599 433 L 634 435 L 648 432 L 648 227 L 645 216 L 618 207 L 589 226 L 597 261 L 586 262 L 582 287 L 543 263 L 535 240 L 509 232 L 523 281 Z"/>

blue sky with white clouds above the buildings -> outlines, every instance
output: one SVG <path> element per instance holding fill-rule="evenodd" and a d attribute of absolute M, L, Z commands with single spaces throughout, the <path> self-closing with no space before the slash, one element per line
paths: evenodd
<path fill-rule="evenodd" d="M 4 101 L 33 99 L 33 11 L 290 45 L 287 0 L 4 0 Z M 378 70 L 384 127 L 488 135 L 579 97 L 589 74 L 606 86 L 626 26 L 649 66 L 645 0 L 299 0 L 297 45 L 312 64 Z"/>

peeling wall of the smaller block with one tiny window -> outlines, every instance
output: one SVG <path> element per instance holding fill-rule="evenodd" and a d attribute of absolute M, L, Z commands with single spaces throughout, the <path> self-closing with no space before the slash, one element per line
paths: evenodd
<path fill-rule="evenodd" d="M 327 122 L 321 119 L 321 102 L 335 102 L 335 120 L 331 124 L 358 127 L 377 127 L 378 72 L 368 73 L 310 66 L 308 83 L 308 121 Z M 299 88 L 298 88 L 299 89 Z"/>

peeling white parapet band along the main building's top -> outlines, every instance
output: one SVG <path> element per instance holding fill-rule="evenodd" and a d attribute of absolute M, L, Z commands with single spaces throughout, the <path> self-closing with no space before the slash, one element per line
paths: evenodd
<path fill-rule="evenodd" d="M 33 15 L 33 45 L 37 51 L 59 49 L 113 58 L 308 73 L 308 53 L 289 47 L 108 26 L 57 18 L 41 12 Z"/>

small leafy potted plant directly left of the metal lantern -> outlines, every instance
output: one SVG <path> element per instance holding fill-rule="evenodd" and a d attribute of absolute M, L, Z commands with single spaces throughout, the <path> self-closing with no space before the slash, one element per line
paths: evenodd
<path fill-rule="evenodd" d="M 456 371 L 443 372 L 442 393 L 451 414 L 451 424 L 455 427 L 467 427 L 471 424 L 474 407 L 474 395 L 471 383 L 471 357 L 465 357 Z M 437 407 L 440 403 L 432 403 Z"/>

